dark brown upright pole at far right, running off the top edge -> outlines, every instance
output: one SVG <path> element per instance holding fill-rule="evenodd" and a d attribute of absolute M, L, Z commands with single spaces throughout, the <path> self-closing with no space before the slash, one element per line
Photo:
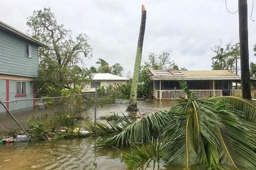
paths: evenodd
<path fill-rule="evenodd" d="M 240 56 L 241 56 L 242 97 L 245 99 L 251 99 L 247 0 L 239 0 L 238 9 L 239 9 L 239 41 L 240 41 Z"/>

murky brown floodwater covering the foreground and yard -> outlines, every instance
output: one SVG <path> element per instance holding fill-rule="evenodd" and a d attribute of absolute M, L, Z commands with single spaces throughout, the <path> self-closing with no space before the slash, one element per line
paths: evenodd
<path fill-rule="evenodd" d="M 126 101 L 119 101 L 119 104 Z M 170 102 L 139 101 L 141 111 L 166 110 Z M 117 105 L 102 108 L 111 111 Z M 126 108 L 124 108 L 126 109 Z M 123 112 L 123 111 L 122 111 Z M 86 115 L 87 113 L 82 113 Z M 90 116 L 90 115 L 89 115 Z M 79 124 L 83 126 L 83 124 Z M 95 149 L 94 139 L 62 139 L 0 145 L 1 169 L 126 169 L 115 148 Z M 162 167 L 178 170 L 182 167 Z"/>

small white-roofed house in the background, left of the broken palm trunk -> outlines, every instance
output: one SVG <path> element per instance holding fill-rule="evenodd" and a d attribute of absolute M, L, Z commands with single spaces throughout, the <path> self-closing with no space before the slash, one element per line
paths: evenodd
<path fill-rule="evenodd" d="M 110 74 L 110 73 L 94 73 L 91 83 L 84 88 L 84 92 L 94 92 L 95 87 L 119 86 L 119 84 L 127 83 L 129 79 Z"/>

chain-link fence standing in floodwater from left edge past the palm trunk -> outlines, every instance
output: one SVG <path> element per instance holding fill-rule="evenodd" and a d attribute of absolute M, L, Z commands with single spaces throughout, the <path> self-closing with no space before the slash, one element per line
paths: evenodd
<path fill-rule="evenodd" d="M 153 103 L 138 101 L 138 112 L 126 112 L 128 101 L 119 99 L 118 95 L 106 92 L 48 98 L 23 98 L 3 101 L 3 103 L 24 129 L 28 128 L 27 121 L 30 118 L 42 116 L 54 117 L 69 114 L 79 120 L 96 122 L 111 115 L 136 117 L 170 107 L 167 105 L 159 108 Z M 18 124 L 0 105 L 0 136 L 20 131 Z"/>

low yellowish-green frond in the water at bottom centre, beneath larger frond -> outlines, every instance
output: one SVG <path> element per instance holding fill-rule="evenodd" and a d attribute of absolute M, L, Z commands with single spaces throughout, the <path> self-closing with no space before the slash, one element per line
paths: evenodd
<path fill-rule="evenodd" d="M 131 145 L 131 153 L 123 153 L 122 160 L 127 165 L 128 169 L 146 169 L 151 164 L 151 169 L 159 169 L 162 158 L 161 143 L 155 142 L 149 145 L 138 147 Z"/>

